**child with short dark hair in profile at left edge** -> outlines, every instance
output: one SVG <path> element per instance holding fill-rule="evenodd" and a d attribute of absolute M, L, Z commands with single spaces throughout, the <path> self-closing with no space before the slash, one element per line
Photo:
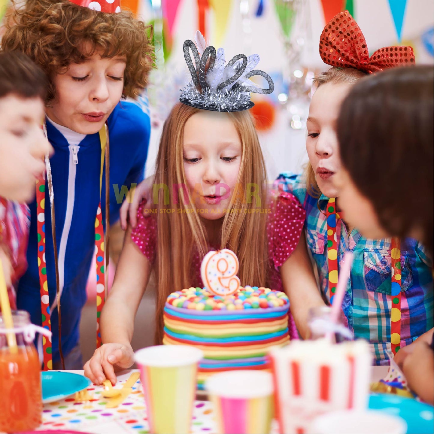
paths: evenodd
<path fill-rule="evenodd" d="M 26 270 L 30 224 L 24 202 L 35 196 L 50 151 L 41 121 L 46 76 L 26 55 L 0 53 L 0 259 L 12 309 L 15 290 Z"/>

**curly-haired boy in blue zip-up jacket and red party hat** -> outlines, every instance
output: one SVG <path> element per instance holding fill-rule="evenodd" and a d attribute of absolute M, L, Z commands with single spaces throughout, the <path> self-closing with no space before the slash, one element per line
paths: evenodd
<path fill-rule="evenodd" d="M 154 51 L 145 24 L 118 0 L 28 0 L 7 18 L 2 50 L 26 53 L 49 77 L 45 124 L 56 151 L 30 204 L 29 268 L 17 304 L 33 323 L 52 329 L 45 368 L 81 369 L 79 322 L 89 270 L 97 266 L 99 318 L 109 220 L 118 219 L 125 192 L 144 176 L 151 125 L 146 102 L 137 97 Z"/>

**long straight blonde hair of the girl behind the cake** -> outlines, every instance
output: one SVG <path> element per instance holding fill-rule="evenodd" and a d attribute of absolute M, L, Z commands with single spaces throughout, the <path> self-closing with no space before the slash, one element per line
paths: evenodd
<path fill-rule="evenodd" d="M 204 223 L 199 215 L 179 213 L 191 210 L 190 194 L 172 197 L 169 204 L 164 204 L 164 185 L 173 194 L 173 186 L 187 186 L 184 173 L 183 136 L 187 120 L 199 109 L 178 103 L 172 109 L 164 123 L 158 150 L 155 184 L 158 190 L 157 205 L 157 256 L 155 272 L 157 280 L 157 328 L 155 340 L 161 343 L 163 335 L 163 309 L 168 295 L 192 285 L 194 282 L 191 264 L 193 255 L 199 252 L 201 258 L 209 250 L 209 241 Z M 244 199 L 240 194 L 233 194 L 229 209 L 223 217 L 221 230 L 221 248 L 233 250 L 240 261 L 238 276 L 241 284 L 265 286 L 268 269 L 268 248 L 266 238 L 265 213 L 249 213 L 249 209 L 266 208 L 266 169 L 259 140 L 253 126 L 251 115 L 247 111 L 228 113 L 233 121 L 241 141 L 241 165 L 237 184 L 243 188 Z M 210 132 L 218 134 L 218 132 Z M 261 204 L 255 200 L 245 200 L 247 184 L 256 184 Z M 182 188 L 180 189 L 182 193 Z M 188 198 L 187 198 L 188 196 Z M 174 209 L 167 214 L 164 209 Z"/>

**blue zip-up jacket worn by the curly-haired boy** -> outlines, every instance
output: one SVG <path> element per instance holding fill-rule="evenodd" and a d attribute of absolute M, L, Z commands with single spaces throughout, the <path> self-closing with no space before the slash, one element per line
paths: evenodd
<path fill-rule="evenodd" d="M 66 356 L 79 343 L 81 309 L 86 302 L 86 283 L 95 251 L 95 217 L 100 194 L 101 145 L 99 133 L 86 135 L 78 146 L 69 145 L 54 125 L 47 122 L 48 139 L 55 150 L 50 158 L 56 215 L 56 240 L 62 314 L 62 350 Z M 110 222 L 115 223 L 122 205 L 122 185 L 129 188 L 144 177 L 151 123 L 134 102 L 120 102 L 108 119 L 110 139 Z M 102 221 L 105 222 L 105 170 L 102 182 Z M 116 185 L 117 184 L 117 185 Z M 45 194 L 46 270 L 50 306 L 56 299 L 56 271 L 49 195 Z M 124 189 L 125 191 L 125 189 Z M 36 201 L 30 204 L 31 224 L 27 250 L 28 269 L 17 290 L 18 309 L 30 312 L 41 325 L 38 271 Z M 40 217 L 39 217 L 40 218 Z M 104 223 L 105 224 L 105 223 Z M 96 311 L 95 311 L 96 312 Z M 96 327 L 96 313 L 95 313 Z M 59 357 L 58 311 L 51 312 L 53 362 Z M 92 329 L 92 333 L 96 332 Z"/>

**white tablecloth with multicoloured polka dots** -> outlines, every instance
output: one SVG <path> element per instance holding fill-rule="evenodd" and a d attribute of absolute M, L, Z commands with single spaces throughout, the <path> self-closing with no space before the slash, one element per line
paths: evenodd
<path fill-rule="evenodd" d="M 79 372 L 79 371 L 78 371 Z M 122 386 L 131 371 L 118 375 L 115 387 Z M 83 431 L 91 433 L 148 433 L 145 401 L 140 381 L 133 387 L 132 393 L 117 408 L 105 408 L 108 400 L 103 398 L 103 387 L 90 386 L 87 391 L 93 399 L 79 403 L 74 396 L 44 404 L 43 424 L 39 431 Z M 213 410 L 208 401 L 195 401 L 193 433 L 215 432 Z"/>

